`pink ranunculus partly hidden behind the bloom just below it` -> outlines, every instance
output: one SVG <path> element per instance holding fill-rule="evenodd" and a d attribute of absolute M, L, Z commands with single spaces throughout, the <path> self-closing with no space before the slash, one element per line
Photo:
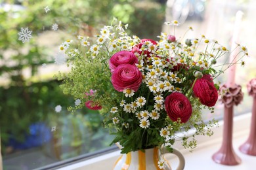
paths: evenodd
<path fill-rule="evenodd" d="M 129 52 L 129 51 L 117 52 L 110 58 L 110 61 L 109 61 L 111 72 L 113 73 L 114 69 L 116 69 L 118 65 L 121 65 L 124 63 L 135 65 L 136 63 L 138 63 L 138 58 L 133 54 L 133 52 Z"/>

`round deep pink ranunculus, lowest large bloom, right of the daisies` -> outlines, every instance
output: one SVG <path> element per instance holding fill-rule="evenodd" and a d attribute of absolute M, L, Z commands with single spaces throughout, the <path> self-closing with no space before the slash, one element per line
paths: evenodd
<path fill-rule="evenodd" d="M 186 96 L 179 92 L 168 95 L 165 99 L 165 110 L 171 120 L 181 119 L 182 123 L 188 122 L 192 114 L 192 106 Z"/>

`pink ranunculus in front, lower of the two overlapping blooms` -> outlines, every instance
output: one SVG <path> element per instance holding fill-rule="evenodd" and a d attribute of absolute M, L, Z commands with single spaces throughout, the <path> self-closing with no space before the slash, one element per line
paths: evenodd
<path fill-rule="evenodd" d="M 127 88 L 137 92 L 142 82 L 142 74 L 135 65 L 118 65 L 112 74 L 111 82 L 118 92 Z"/>

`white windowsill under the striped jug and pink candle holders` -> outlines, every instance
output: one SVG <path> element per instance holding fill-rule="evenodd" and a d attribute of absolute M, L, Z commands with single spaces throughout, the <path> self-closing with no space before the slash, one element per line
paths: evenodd
<path fill-rule="evenodd" d="M 242 154 L 242 152 L 238 150 L 238 147 L 243 144 L 248 137 L 250 123 L 250 113 L 234 117 L 233 148 L 236 154 L 242 159 L 242 163 L 240 165 L 220 165 L 211 160 L 211 156 L 219 150 L 222 143 L 223 121 L 220 121 L 219 127 L 213 129 L 213 131 L 215 132 L 213 137 L 197 137 L 198 147 L 194 150 L 194 152 L 191 153 L 188 150 L 185 150 L 184 148 L 182 148 L 181 143 L 179 142 L 175 144 L 174 147 L 178 148 L 182 152 L 186 160 L 186 165 L 184 169 L 205 169 L 205 167 L 207 167 L 207 169 L 219 170 L 253 169 L 255 164 L 255 157 Z M 104 154 L 103 156 L 92 158 L 90 160 L 85 160 L 79 163 L 68 165 L 66 167 L 62 167 L 59 170 L 113 169 L 113 165 L 116 162 L 117 158 L 119 158 L 119 156 L 119 151 L 115 151 L 109 154 Z M 177 158 L 171 156 L 171 154 L 167 154 L 165 158 L 167 158 L 167 160 L 170 160 L 169 162 L 171 163 L 173 169 L 177 167 Z"/>

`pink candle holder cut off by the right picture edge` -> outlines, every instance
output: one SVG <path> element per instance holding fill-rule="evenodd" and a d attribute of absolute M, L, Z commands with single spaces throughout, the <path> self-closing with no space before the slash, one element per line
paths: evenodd
<path fill-rule="evenodd" d="M 239 150 L 244 154 L 256 156 L 256 78 L 249 81 L 247 84 L 247 90 L 249 95 L 253 96 L 251 128 L 247 141 L 240 146 Z"/>

